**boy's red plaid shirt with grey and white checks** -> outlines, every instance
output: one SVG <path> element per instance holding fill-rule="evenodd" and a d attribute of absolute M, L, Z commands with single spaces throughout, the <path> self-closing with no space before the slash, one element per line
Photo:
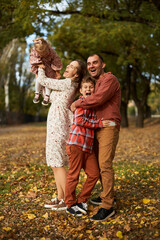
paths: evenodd
<path fill-rule="evenodd" d="M 82 151 L 91 153 L 93 150 L 94 129 L 102 127 L 102 121 L 96 120 L 93 110 L 77 108 L 73 116 L 73 124 L 67 144 L 76 145 Z"/>

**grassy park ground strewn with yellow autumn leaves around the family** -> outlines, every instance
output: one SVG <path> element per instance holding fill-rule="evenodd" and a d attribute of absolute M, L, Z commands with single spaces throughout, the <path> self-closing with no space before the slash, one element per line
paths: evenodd
<path fill-rule="evenodd" d="M 56 196 L 45 138 L 45 125 L 0 128 L 0 239 L 159 239 L 159 121 L 121 129 L 114 160 L 116 215 L 100 223 L 90 221 L 98 210 L 91 204 L 82 218 L 43 207 Z M 77 192 L 84 180 L 82 171 Z M 100 191 L 98 182 L 92 197 Z"/>

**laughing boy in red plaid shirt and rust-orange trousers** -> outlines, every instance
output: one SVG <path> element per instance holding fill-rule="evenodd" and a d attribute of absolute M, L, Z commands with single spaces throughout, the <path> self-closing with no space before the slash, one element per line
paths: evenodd
<path fill-rule="evenodd" d="M 94 87 L 94 80 L 89 76 L 85 77 L 80 88 L 81 98 L 91 95 L 94 92 Z M 77 108 L 74 113 L 66 147 L 69 156 L 69 170 L 65 188 L 67 213 L 76 216 L 81 216 L 82 213 L 87 214 L 88 205 L 86 202 L 100 176 L 97 159 L 93 152 L 94 129 L 105 127 L 107 122 L 96 120 L 95 113 L 91 109 Z M 82 168 L 87 175 L 87 179 L 76 199 L 75 190 Z"/>

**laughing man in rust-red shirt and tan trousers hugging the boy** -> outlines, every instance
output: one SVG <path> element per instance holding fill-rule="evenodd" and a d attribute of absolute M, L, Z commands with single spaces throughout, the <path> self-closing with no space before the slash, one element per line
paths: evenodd
<path fill-rule="evenodd" d="M 102 204 L 97 214 L 91 218 L 93 221 L 104 221 L 115 214 L 112 162 L 119 138 L 121 90 L 117 78 L 110 72 L 105 73 L 104 68 L 105 63 L 100 55 L 93 54 L 88 57 L 87 69 L 96 81 L 95 93 L 71 105 L 72 111 L 77 107 L 94 108 L 98 119 L 110 121 L 109 126 L 97 130 L 96 133 L 103 191 L 99 198 L 92 200 L 92 203 Z"/>

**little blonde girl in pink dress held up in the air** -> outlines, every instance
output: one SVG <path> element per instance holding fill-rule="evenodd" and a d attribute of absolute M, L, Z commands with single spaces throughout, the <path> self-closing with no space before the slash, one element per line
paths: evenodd
<path fill-rule="evenodd" d="M 36 77 L 38 74 L 38 67 L 41 66 L 45 70 L 45 75 L 49 78 L 59 78 L 59 71 L 62 69 L 62 62 L 56 51 L 51 47 L 51 45 L 44 40 L 42 37 L 33 40 L 34 48 L 31 50 L 29 61 L 31 64 L 31 72 L 33 72 Z M 37 81 L 35 84 L 35 97 L 33 99 L 34 103 L 39 103 L 40 93 L 42 92 L 42 85 Z M 45 87 L 44 99 L 42 104 L 47 106 L 49 103 L 51 90 Z"/>

